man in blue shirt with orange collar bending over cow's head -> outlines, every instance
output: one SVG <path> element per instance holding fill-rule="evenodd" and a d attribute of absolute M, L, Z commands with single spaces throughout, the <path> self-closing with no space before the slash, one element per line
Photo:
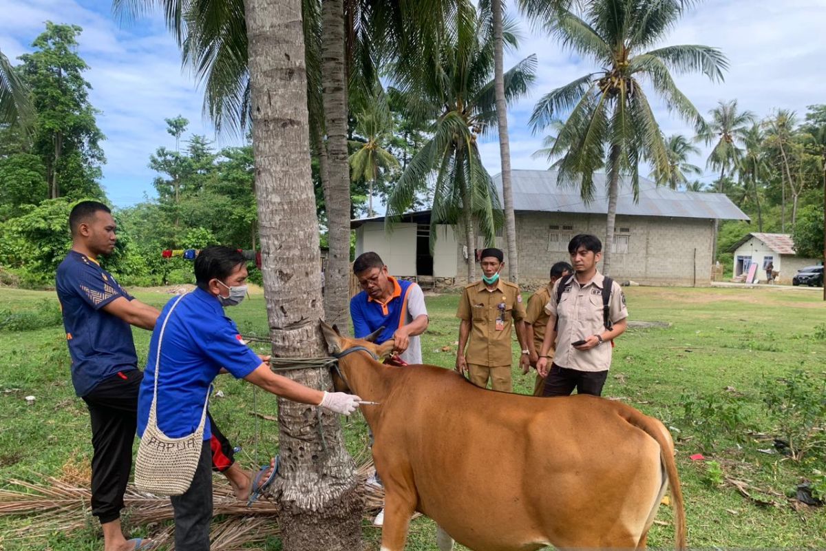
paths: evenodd
<path fill-rule="evenodd" d="M 384 327 L 377 344 L 393 340 L 393 352 L 404 363 L 421 363 L 421 340 L 430 318 L 425 293 L 416 283 L 393 278 L 376 253 L 359 254 L 353 273 L 362 291 L 350 299 L 356 339 Z"/>

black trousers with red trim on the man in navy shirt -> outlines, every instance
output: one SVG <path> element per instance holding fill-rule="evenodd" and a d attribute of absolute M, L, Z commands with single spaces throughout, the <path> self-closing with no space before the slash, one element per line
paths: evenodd
<path fill-rule="evenodd" d="M 117 520 L 132 470 L 132 444 L 137 430 L 138 391 L 144 373 L 123 371 L 97 384 L 83 397 L 92 418 L 92 514 L 101 524 Z M 207 411 L 212 439 L 207 442 L 216 471 L 235 462 L 232 444 Z"/>

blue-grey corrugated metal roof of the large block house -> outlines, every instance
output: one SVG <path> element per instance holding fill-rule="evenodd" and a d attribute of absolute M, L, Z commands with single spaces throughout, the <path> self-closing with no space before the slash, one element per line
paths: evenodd
<path fill-rule="evenodd" d="M 594 174 L 594 200 L 582 201 L 576 187 L 557 183 L 556 170 L 513 170 L 515 211 L 575 212 L 606 214 L 608 198 L 605 193 L 605 174 Z M 501 174 L 493 177 L 501 198 Z M 681 218 L 719 218 L 720 220 L 750 220 L 749 217 L 723 193 L 678 192 L 657 186 L 648 178 L 639 178 L 639 201 L 634 202 L 630 183 L 619 181 L 617 214 L 629 216 L 672 216 Z"/>

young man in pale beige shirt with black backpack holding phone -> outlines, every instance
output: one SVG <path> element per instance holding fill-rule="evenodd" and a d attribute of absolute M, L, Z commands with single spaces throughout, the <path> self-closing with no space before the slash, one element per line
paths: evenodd
<path fill-rule="evenodd" d="M 628 326 L 628 310 L 619 283 L 596 270 L 602 243 L 596 235 L 579 234 L 568 243 L 574 274 L 559 279 L 545 306 L 548 325 L 536 370 L 545 377 L 543 396 L 601 396 L 611 366 L 611 340 Z M 609 292 L 608 312 L 603 289 Z M 606 319 L 607 318 L 607 319 Z M 556 352 L 548 369 L 549 352 Z"/>

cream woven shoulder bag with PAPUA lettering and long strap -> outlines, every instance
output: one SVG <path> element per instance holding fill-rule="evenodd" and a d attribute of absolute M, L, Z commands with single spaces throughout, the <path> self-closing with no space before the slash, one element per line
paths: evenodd
<path fill-rule="evenodd" d="M 135 486 L 143 492 L 161 496 L 180 496 L 189 489 L 195 469 L 201 460 L 201 448 L 204 436 L 204 420 L 207 419 L 207 404 L 211 387 L 201 413 L 201 422 L 191 435 L 169 438 L 158 428 L 158 379 L 160 378 L 160 348 L 164 342 L 166 322 L 172 316 L 175 306 L 184 295 L 169 308 L 169 314 L 161 325 L 158 335 L 158 354 L 155 357 L 154 392 L 150 416 L 146 423 L 144 435 L 138 446 L 138 458 L 135 462 Z"/>

